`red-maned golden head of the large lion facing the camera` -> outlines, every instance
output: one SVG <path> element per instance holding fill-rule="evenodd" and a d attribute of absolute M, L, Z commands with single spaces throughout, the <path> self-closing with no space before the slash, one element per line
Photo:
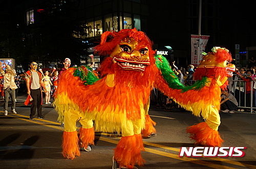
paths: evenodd
<path fill-rule="evenodd" d="M 109 40 L 108 40 L 109 39 Z M 153 63 L 152 43 L 148 37 L 136 29 L 119 32 L 104 32 L 96 52 L 109 55 L 114 64 L 122 70 L 143 72 Z"/>

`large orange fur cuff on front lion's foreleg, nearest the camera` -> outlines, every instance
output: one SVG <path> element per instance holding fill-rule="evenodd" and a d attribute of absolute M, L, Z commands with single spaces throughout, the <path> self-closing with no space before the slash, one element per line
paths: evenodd
<path fill-rule="evenodd" d="M 141 157 L 141 150 L 144 151 L 141 134 L 124 136 L 120 139 L 115 149 L 114 159 L 118 161 L 121 166 L 128 168 L 133 168 L 135 163 L 143 165 L 145 160 Z"/>

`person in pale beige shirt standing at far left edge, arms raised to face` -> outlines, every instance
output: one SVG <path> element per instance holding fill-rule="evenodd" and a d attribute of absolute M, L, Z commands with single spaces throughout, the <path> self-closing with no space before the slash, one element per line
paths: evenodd
<path fill-rule="evenodd" d="M 5 116 L 7 116 L 9 96 L 11 96 L 11 101 L 12 101 L 11 111 L 14 114 L 17 114 L 15 110 L 15 89 L 17 89 L 18 87 L 16 86 L 16 83 L 14 81 L 14 76 L 15 76 L 14 71 L 12 70 L 10 65 L 6 63 L 4 64 L 5 64 L 6 70 L 4 71 L 2 66 L 0 66 L 0 75 L 4 76 L 4 89 L 3 89 L 5 93 L 4 111 L 5 111 Z"/>

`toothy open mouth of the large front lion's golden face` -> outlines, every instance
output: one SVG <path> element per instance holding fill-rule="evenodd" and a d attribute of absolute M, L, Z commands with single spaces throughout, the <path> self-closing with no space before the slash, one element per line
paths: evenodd
<path fill-rule="evenodd" d="M 144 71 L 147 65 L 150 65 L 148 60 L 136 60 L 128 61 L 127 58 L 121 59 L 114 57 L 114 61 L 124 70 L 135 70 L 135 71 Z"/>

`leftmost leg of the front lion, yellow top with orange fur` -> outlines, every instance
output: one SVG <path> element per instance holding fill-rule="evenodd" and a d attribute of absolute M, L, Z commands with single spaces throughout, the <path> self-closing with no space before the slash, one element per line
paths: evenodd
<path fill-rule="evenodd" d="M 76 131 L 76 122 L 80 119 L 74 109 L 69 109 L 64 115 L 64 132 L 62 137 L 62 155 L 69 159 L 80 156 L 79 139 Z"/>

